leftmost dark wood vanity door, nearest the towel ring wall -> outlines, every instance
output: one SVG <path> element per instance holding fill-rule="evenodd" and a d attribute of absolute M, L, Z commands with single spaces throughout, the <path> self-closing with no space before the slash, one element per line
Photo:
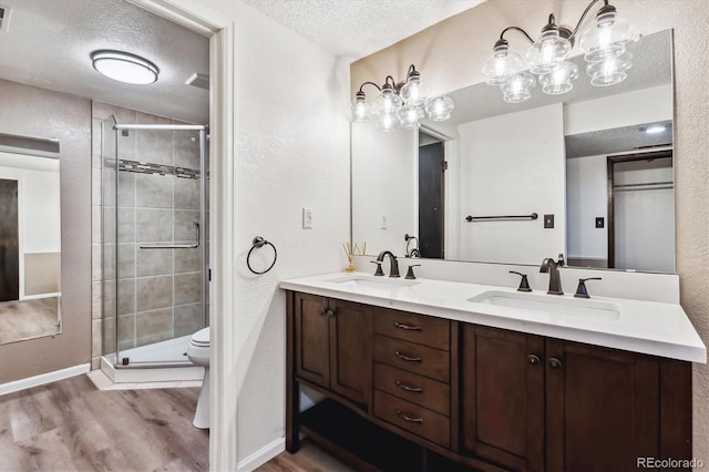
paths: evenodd
<path fill-rule="evenodd" d="M 330 384 L 330 317 L 327 299 L 296 294 L 296 373 L 328 388 Z"/>

